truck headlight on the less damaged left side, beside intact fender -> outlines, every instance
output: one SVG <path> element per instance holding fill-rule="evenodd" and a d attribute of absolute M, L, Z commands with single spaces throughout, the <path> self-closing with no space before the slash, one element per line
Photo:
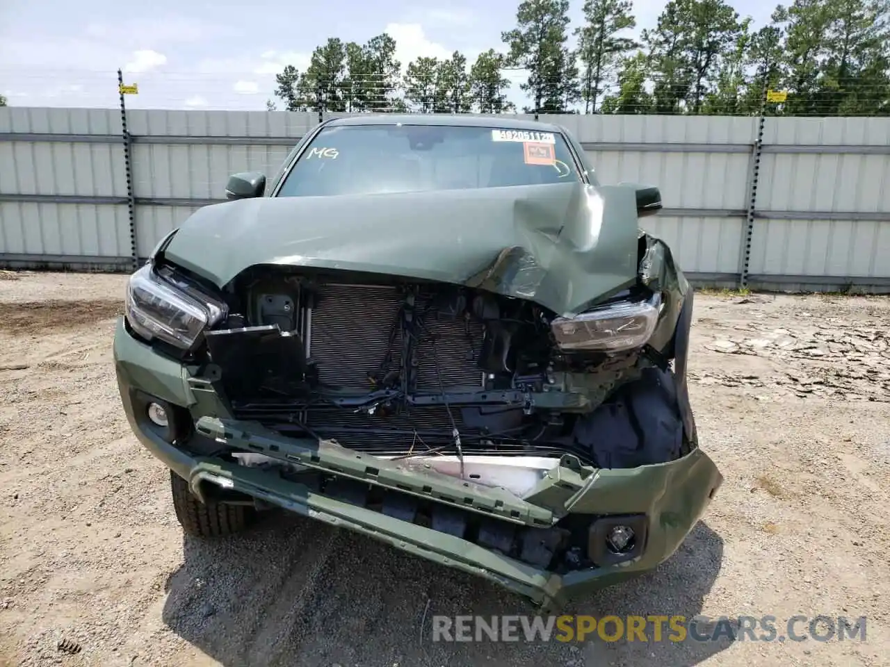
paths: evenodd
<path fill-rule="evenodd" d="M 134 332 L 182 350 L 190 350 L 227 310 L 225 303 L 161 277 L 152 264 L 136 271 L 126 287 L 126 319 Z"/>

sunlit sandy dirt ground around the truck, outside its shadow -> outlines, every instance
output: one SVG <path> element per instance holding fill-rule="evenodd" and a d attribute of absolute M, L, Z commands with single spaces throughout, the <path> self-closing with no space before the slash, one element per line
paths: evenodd
<path fill-rule="evenodd" d="M 118 403 L 110 343 L 124 284 L 0 272 L 4 667 L 887 664 L 886 299 L 700 294 L 692 406 L 724 486 L 656 572 L 569 610 L 773 615 L 780 633 L 793 615 L 864 615 L 866 641 L 443 644 L 432 615 L 530 607 L 302 518 L 183 540 L 167 471 Z"/>

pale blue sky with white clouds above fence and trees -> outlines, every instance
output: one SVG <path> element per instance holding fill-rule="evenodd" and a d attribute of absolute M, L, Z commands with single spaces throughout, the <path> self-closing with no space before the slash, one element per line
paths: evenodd
<path fill-rule="evenodd" d="M 273 0 L 182 3 L 174 0 L 0 0 L 0 94 L 22 107 L 117 108 L 117 68 L 139 93 L 128 108 L 263 110 L 275 74 L 301 71 L 328 36 L 364 44 L 388 32 L 402 66 L 418 56 L 459 50 L 471 62 L 514 28 L 517 0 Z M 756 26 L 777 0 L 732 0 Z M 583 0 L 571 0 L 571 28 Z M 637 27 L 652 28 L 663 0 L 635 0 Z M 520 106 L 521 72 L 511 100 Z"/>

